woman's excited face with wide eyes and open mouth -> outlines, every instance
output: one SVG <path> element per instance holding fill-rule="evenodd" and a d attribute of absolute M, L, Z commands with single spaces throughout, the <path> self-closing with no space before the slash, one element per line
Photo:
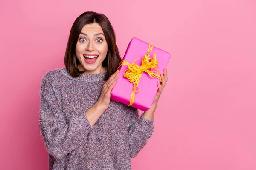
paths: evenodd
<path fill-rule="evenodd" d="M 76 57 L 79 70 L 84 74 L 96 74 L 105 70 L 102 62 L 106 58 L 108 44 L 98 23 L 86 24 L 76 43 Z"/>

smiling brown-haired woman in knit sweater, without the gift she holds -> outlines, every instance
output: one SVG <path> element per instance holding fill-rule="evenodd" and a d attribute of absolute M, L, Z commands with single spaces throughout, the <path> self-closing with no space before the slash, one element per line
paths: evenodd
<path fill-rule="evenodd" d="M 85 12 L 73 23 L 65 67 L 41 82 L 40 131 L 50 170 L 131 169 L 131 157 L 154 131 L 154 111 L 167 72 L 161 75 L 152 107 L 138 111 L 110 100 L 121 58 L 114 30 L 103 14 Z"/>

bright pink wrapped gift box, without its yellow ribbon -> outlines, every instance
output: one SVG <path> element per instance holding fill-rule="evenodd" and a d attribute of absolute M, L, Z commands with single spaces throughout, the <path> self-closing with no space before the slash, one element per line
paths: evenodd
<path fill-rule="evenodd" d="M 132 63 L 137 58 L 143 59 L 144 54 L 148 52 L 148 46 L 148 43 L 134 37 L 126 49 L 123 60 Z M 155 46 L 153 47 L 150 55 L 154 56 L 154 52 L 158 61 L 158 74 L 161 75 L 163 74 L 163 69 L 165 69 L 167 66 L 171 54 L 156 48 Z M 137 65 L 141 65 L 141 60 L 138 59 L 135 63 Z M 124 77 L 124 71 L 127 68 L 127 65 L 122 65 L 119 67 L 119 78 L 111 91 L 111 99 L 125 105 L 130 103 L 131 93 L 133 91 L 133 83 L 129 82 L 129 79 Z M 143 72 L 139 82 L 140 91 L 135 93 L 134 103 L 131 106 L 142 111 L 146 111 L 151 108 L 158 90 L 157 82 L 160 82 L 160 80 L 151 78 L 148 73 Z"/>

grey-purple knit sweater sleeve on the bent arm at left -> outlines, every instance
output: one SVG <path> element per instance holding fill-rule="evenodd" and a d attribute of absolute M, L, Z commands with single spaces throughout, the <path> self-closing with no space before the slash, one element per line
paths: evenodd
<path fill-rule="evenodd" d="M 61 111 L 56 91 L 44 76 L 40 89 L 39 129 L 49 154 L 61 159 L 83 144 L 92 127 L 85 113 L 67 119 Z"/>

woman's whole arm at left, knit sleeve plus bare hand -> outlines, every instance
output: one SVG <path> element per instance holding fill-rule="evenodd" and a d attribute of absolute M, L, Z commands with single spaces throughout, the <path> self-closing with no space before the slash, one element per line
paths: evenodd
<path fill-rule="evenodd" d="M 58 92 L 47 75 L 44 76 L 40 91 L 40 131 L 49 154 L 61 159 L 67 153 L 80 147 L 90 133 L 92 126 L 105 111 L 110 102 L 110 92 L 116 83 L 116 71 L 104 84 L 102 94 L 93 107 L 84 114 L 67 121 L 55 93 Z"/>

